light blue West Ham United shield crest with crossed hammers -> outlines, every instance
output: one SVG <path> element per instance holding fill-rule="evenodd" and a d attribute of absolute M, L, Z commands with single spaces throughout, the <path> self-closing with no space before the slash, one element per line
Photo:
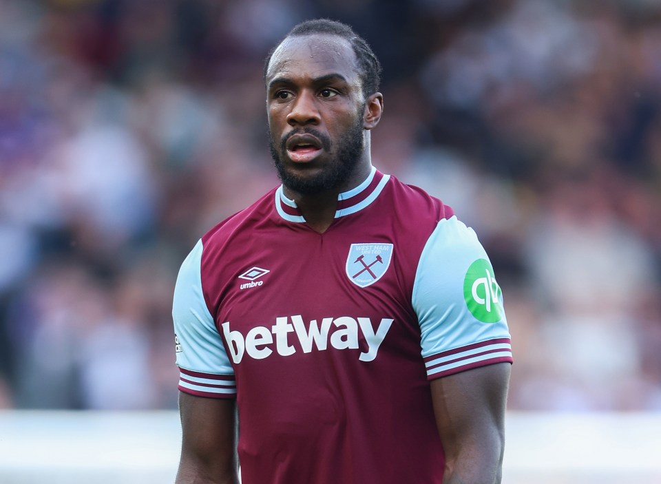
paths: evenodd
<path fill-rule="evenodd" d="M 351 244 L 346 257 L 346 275 L 353 284 L 367 287 L 388 271 L 392 244 Z"/>

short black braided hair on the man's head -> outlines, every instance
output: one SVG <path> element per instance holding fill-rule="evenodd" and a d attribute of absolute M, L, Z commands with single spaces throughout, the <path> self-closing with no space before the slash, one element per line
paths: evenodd
<path fill-rule="evenodd" d="M 275 45 L 264 60 L 264 80 L 266 80 L 266 71 L 269 70 L 269 63 L 273 52 L 289 37 L 305 36 L 311 34 L 330 34 L 342 37 L 351 44 L 353 52 L 359 65 L 359 78 L 365 97 L 371 96 L 379 90 L 381 84 L 381 63 L 377 56 L 372 52 L 368 43 L 361 36 L 356 34 L 346 23 L 330 19 L 306 20 L 296 25 L 286 36 Z"/>

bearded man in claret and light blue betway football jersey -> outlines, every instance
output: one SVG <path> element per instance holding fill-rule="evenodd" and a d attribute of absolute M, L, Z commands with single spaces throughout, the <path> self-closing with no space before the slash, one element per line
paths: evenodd
<path fill-rule="evenodd" d="M 512 353 L 449 207 L 373 168 L 380 66 L 348 26 L 266 60 L 282 186 L 218 224 L 174 297 L 178 483 L 497 483 Z"/>

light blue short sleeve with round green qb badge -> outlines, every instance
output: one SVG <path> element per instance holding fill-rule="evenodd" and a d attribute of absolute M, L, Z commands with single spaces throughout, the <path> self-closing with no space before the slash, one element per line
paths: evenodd
<path fill-rule="evenodd" d="M 512 363 L 501 288 L 477 235 L 456 216 L 437 224 L 421 253 L 412 305 L 428 379 Z"/>

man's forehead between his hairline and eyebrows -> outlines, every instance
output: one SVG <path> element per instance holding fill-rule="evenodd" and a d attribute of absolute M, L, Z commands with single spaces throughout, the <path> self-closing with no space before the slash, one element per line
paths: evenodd
<path fill-rule="evenodd" d="M 342 37 L 310 34 L 284 39 L 271 56 L 266 83 L 274 78 L 317 78 L 340 74 L 359 83 L 358 63 L 351 44 Z"/>

